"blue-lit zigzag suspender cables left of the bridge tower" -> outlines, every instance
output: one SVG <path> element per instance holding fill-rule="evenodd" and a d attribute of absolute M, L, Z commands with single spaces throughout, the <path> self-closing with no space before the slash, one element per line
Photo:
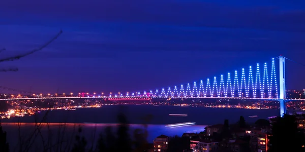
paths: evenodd
<path fill-rule="evenodd" d="M 247 74 L 246 74 L 247 73 Z M 249 69 L 242 68 L 219 78 L 207 79 L 206 82 L 194 82 L 192 85 L 180 85 L 149 92 L 126 93 L 125 95 L 109 95 L 110 97 L 236 97 L 236 98 L 279 98 L 275 59 L 271 64 Z"/>

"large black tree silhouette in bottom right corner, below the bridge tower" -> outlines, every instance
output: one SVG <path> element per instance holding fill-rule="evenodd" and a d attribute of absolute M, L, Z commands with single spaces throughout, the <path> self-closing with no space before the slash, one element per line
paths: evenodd
<path fill-rule="evenodd" d="M 278 117 L 272 123 L 272 135 L 269 137 L 270 146 L 268 152 L 276 151 L 305 151 L 304 133 L 297 128 L 296 118 L 291 115 Z"/>

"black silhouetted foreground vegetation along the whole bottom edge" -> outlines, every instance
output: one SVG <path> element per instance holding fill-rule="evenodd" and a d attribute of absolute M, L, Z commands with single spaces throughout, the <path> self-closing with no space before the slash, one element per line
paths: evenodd
<path fill-rule="evenodd" d="M 47 113 L 46 113 L 47 115 Z M 42 122 L 36 122 L 35 131 L 30 133 L 27 138 L 23 137 L 19 133 L 18 144 L 14 149 L 9 149 L 9 143 L 7 134 L 0 124 L 0 151 L 72 151 L 72 152 L 108 152 L 108 151 L 154 151 L 154 146 L 147 141 L 147 125 L 143 125 L 144 129 L 136 129 L 133 134 L 129 133 L 128 121 L 120 113 L 117 117 L 119 126 L 117 129 L 113 129 L 111 126 L 107 127 L 100 134 L 94 134 L 93 139 L 86 139 L 83 136 L 83 130 L 81 127 L 75 126 L 75 134 L 70 137 L 65 136 L 65 124 L 63 128 L 60 128 L 57 133 L 49 131 L 47 136 L 41 133 Z M 146 117 L 148 122 L 151 117 Z M 270 127 L 268 120 L 258 120 L 255 124 L 256 127 Z M 48 127 L 48 126 L 47 126 Z M 237 123 L 229 125 L 228 120 L 224 121 L 223 127 L 220 132 L 214 132 L 211 136 L 206 136 L 210 140 L 219 141 L 221 144 L 215 151 L 232 151 L 228 147 L 227 141 L 234 138 L 232 133 L 234 130 L 240 128 L 250 128 L 251 125 L 245 122 L 245 119 L 241 116 Z M 21 132 L 19 130 L 19 132 Z M 56 136 L 55 136 L 56 134 Z M 200 132 L 197 135 L 206 135 L 206 132 Z M 190 148 L 191 140 L 186 136 L 174 136 L 170 137 L 168 143 L 169 152 L 178 151 L 192 151 Z M 243 138 L 246 144 L 243 144 L 240 151 L 255 151 L 251 149 L 250 138 Z M 40 141 L 40 142 L 37 142 Z M 150 141 L 151 142 L 151 141 Z M 39 145 L 38 145 L 39 144 Z M 268 152 L 273 151 L 305 151 L 305 136 L 304 130 L 297 127 L 295 116 L 285 115 L 283 118 L 277 118 L 277 120 L 271 124 L 269 132 L 269 145 Z"/>

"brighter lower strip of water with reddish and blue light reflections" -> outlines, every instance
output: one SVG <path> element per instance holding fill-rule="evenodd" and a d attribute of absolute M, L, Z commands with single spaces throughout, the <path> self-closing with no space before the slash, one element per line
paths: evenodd
<path fill-rule="evenodd" d="M 20 123 L 21 132 L 33 132 L 35 128 L 35 123 Z M 2 123 L 3 129 L 7 131 L 8 134 L 8 142 L 10 145 L 16 143 L 16 139 L 18 139 L 18 123 Z M 82 128 L 84 136 L 88 139 L 92 136 L 93 133 L 99 134 L 103 133 L 104 129 L 107 126 L 113 127 L 113 131 L 115 134 L 115 129 L 118 127 L 118 124 L 83 124 L 83 123 L 42 123 L 41 130 L 42 132 L 47 132 L 48 130 L 52 130 L 53 132 L 57 132 L 58 130 L 65 127 L 67 134 L 72 134 L 73 131 L 76 131 L 78 127 Z M 49 129 L 48 129 L 49 127 Z M 144 129 L 144 125 L 141 124 L 130 124 L 130 134 L 133 134 L 135 129 Z M 191 126 L 180 126 L 180 127 L 165 127 L 165 125 L 147 125 L 148 131 L 148 142 L 153 142 L 154 138 L 164 134 L 167 136 L 178 135 L 181 136 L 185 132 L 201 132 L 204 131 L 205 125 L 191 125 Z"/>

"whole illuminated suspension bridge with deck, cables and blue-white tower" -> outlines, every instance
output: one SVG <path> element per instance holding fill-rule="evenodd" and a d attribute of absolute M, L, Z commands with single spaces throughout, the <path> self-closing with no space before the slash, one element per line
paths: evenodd
<path fill-rule="evenodd" d="M 276 60 L 279 60 L 276 63 Z M 246 74 L 247 73 L 247 74 Z M 1 88 L 1 87 L 0 87 Z M 3 89 L 6 89 L 2 87 Z M 259 63 L 256 66 L 242 68 L 240 71 L 220 75 L 206 81 L 194 82 L 187 85 L 162 88 L 142 92 L 126 92 L 108 95 L 89 95 L 70 93 L 63 97 L 48 94 L 33 94 L 33 97 L 7 98 L 0 100 L 30 100 L 30 99 L 77 99 L 77 98 L 107 98 L 107 99 L 150 99 L 150 98 L 206 98 L 206 99 L 254 99 L 273 100 L 280 102 L 280 115 L 286 113 L 286 102 L 305 101 L 305 99 L 286 99 L 285 87 L 285 57 L 272 58 L 269 63 Z"/>

